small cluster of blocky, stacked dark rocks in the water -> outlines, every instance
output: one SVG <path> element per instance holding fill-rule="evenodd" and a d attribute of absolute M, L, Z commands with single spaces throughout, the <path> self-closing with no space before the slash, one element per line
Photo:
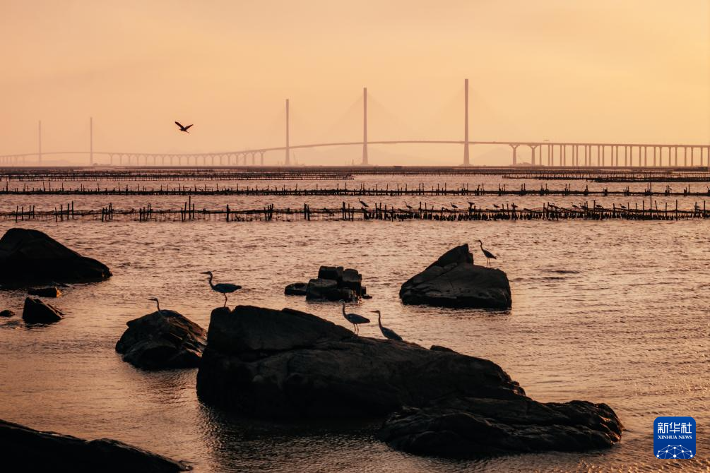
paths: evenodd
<path fill-rule="evenodd" d="M 317 278 L 310 279 L 308 284 L 289 284 L 284 293 L 304 295 L 307 301 L 354 302 L 361 297 L 371 299 L 362 285 L 362 275 L 355 269 L 344 269 L 342 266 L 321 266 Z"/>

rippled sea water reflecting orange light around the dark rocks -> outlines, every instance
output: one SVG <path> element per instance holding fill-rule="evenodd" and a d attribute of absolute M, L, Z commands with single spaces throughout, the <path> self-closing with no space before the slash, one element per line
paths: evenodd
<path fill-rule="evenodd" d="M 472 188 L 485 182 L 487 189 L 496 188 L 498 182 L 509 188 L 520 185 L 500 177 L 368 176 L 348 181 L 348 187 L 360 183 L 416 186 L 418 182 L 428 187 L 469 182 Z M 326 187 L 334 182 L 298 184 Z M 573 188 L 586 185 L 571 184 Z M 539 185 L 530 182 L 528 189 Z M 671 185 L 682 189 L 686 184 Z M 637 187 L 643 189 L 645 184 Z M 0 211 L 28 204 L 39 211 L 53 208 L 60 200 L 67 199 L 4 196 Z M 177 208 L 185 199 L 74 200 L 76 208 L 99 208 L 109 202 L 121 208 L 148 202 L 154 208 Z M 356 200 L 346 201 L 356 204 Z M 395 206 L 404 206 L 405 201 L 376 200 Z M 406 200 L 413 206 L 420 200 L 440 206 L 450 204 L 452 198 Z M 471 200 L 484 207 L 506 202 L 540 206 L 547 201 L 568 206 L 581 201 L 555 196 Z M 596 200 L 639 207 L 643 201 Z M 665 203 L 662 198 L 654 200 L 659 207 Z M 702 199 L 679 200 L 685 208 L 696 201 L 702 205 Z M 339 206 L 343 199 L 209 196 L 195 204 L 197 208 L 226 204 L 248 208 L 273 203 L 296 208 L 305 201 L 315 208 Z M 453 201 L 467 206 L 465 197 Z M 675 205 L 675 198 L 667 201 Z M 0 233 L 13 226 L 0 221 Z M 22 226 L 43 230 L 83 255 L 101 260 L 114 277 L 66 289 L 55 301 L 66 318 L 54 325 L 29 328 L 19 316 L 0 321 L 0 418 L 8 421 L 88 438 L 116 438 L 187 460 L 197 472 L 710 470 L 710 221 L 35 221 Z M 498 255 L 494 265 L 508 273 L 513 291 L 510 311 L 400 304 L 398 291 L 406 279 L 450 247 L 469 243 L 473 248 L 479 238 Z M 477 249 L 474 257 L 484 261 Z M 153 311 L 153 303 L 147 300 L 153 296 L 160 298 L 163 308 L 179 311 L 207 328 L 210 311 L 223 299 L 210 291 L 200 274 L 206 270 L 214 272 L 217 282 L 244 286 L 244 291 L 231 296 L 231 305 L 288 306 L 347 325 L 336 304 L 310 304 L 283 295 L 286 284 L 315 277 L 320 265 L 354 267 L 364 274 L 373 299 L 352 308 L 361 313 L 381 309 L 386 325 L 407 340 L 493 360 L 539 401 L 606 402 L 626 425 L 623 440 L 611 450 L 584 454 L 553 452 L 469 462 L 415 457 L 394 452 L 361 426 L 353 430 L 327 423 L 273 425 L 227 416 L 197 401 L 197 370 L 141 372 L 114 351 L 126 321 Z M 21 313 L 24 297 L 22 291 L 0 291 L 0 310 Z M 377 325 L 364 326 L 361 335 L 381 336 Z M 672 461 L 653 456 L 652 423 L 657 416 L 695 418 L 697 458 Z"/>

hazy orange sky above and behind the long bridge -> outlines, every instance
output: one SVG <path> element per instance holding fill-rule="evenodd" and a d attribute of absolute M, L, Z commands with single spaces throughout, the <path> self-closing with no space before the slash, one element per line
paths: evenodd
<path fill-rule="evenodd" d="M 710 143 L 707 0 L 0 0 L 0 35 L 0 154 L 36 150 L 39 119 L 45 151 L 87 149 L 89 116 L 94 150 L 278 146 L 287 97 L 292 144 L 359 140 L 364 86 L 371 140 L 460 139 L 464 77 L 472 140 Z"/>

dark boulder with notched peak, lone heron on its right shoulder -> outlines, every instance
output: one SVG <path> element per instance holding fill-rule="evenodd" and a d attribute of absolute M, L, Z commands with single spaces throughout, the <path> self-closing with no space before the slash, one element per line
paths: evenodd
<path fill-rule="evenodd" d="M 474 265 L 469 245 L 447 251 L 402 284 L 404 304 L 438 307 L 510 308 L 510 283 L 500 269 Z"/>

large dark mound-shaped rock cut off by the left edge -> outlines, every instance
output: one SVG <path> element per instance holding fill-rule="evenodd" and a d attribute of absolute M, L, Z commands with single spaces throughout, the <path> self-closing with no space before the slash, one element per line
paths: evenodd
<path fill-rule="evenodd" d="M 11 228 L 0 239 L 0 282 L 89 282 L 110 276 L 106 265 L 79 255 L 38 230 Z"/>

